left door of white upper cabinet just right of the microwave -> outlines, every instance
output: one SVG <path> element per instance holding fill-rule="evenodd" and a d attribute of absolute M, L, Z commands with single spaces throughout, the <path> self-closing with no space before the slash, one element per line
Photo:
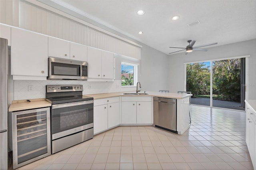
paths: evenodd
<path fill-rule="evenodd" d="M 101 78 L 101 50 L 88 47 L 88 78 Z"/>

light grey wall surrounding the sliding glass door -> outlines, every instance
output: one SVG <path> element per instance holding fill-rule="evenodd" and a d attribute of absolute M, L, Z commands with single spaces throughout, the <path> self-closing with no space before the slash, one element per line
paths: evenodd
<path fill-rule="evenodd" d="M 193 51 L 188 55 L 184 54 L 177 53 L 169 57 L 168 89 L 171 92 L 184 91 L 184 63 L 250 55 L 246 90 L 249 93 L 248 99 L 256 99 L 256 39 L 211 47 L 207 52 Z"/>

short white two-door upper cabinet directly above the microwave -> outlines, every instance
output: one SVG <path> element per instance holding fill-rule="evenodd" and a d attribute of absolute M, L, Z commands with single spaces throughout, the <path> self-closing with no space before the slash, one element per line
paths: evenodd
<path fill-rule="evenodd" d="M 87 46 L 49 37 L 48 55 L 77 61 L 87 61 Z"/>

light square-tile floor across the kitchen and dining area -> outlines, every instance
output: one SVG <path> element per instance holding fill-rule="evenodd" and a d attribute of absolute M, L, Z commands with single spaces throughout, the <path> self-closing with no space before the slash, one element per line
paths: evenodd
<path fill-rule="evenodd" d="M 116 127 L 19 169 L 253 169 L 245 112 L 192 105 L 190 114 L 182 135 L 153 126 Z"/>

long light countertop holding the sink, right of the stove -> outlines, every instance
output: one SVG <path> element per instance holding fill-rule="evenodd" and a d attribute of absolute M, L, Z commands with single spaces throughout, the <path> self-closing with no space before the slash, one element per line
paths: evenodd
<path fill-rule="evenodd" d="M 84 96 L 93 97 L 94 99 L 104 99 L 108 97 L 119 97 L 119 96 L 136 96 L 136 97 L 154 96 L 154 97 L 165 97 L 165 98 L 172 98 L 172 99 L 183 99 L 183 98 L 192 96 L 192 94 L 186 94 L 186 93 L 166 93 L 166 92 L 155 92 L 155 91 L 146 91 L 148 95 L 124 95 L 123 93 L 136 93 L 136 92 L 128 91 L 128 92 L 116 92 L 116 93 L 101 93 L 101 94 L 90 94 L 90 95 L 84 95 Z"/>

